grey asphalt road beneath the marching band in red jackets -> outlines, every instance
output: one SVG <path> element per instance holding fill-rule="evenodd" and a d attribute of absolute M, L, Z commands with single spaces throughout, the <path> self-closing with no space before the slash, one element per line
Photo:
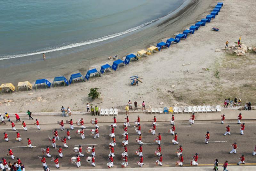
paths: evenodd
<path fill-rule="evenodd" d="M 191 157 L 197 152 L 199 154 L 198 163 L 201 166 L 207 166 L 214 162 L 215 158 L 218 158 L 220 163 L 223 163 L 225 160 L 228 160 L 230 164 L 236 164 L 239 160 L 238 158 L 241 154 L 245 155 L 245 162 L 251 163 L 249 165 L 254 165 L 256 163 L 256 157 L 252 156 L 253 148 L 256 144 L 255 142 L 255 128 L 256 128 L 256 121 L 245 121 L 245 131 L 244 135 L 240 135 L 240 125 L 236 124 L 236 121 L 228 121 L 229 123 L 220 124 L 216 122 L 196 122 L 194 125 L 189 125 L 187 122 L 176 122 L 176 132 L 178 133 L 178 142 L 180 145 L 183 146 L 183 155 L 184 155 L 184 165 L 189 166 Z M 82 140 L 79 135 L 76 135 L 75 130 L 71 132 L 71 140 L 68 140 L 67 145 L 69 145 L 68 149 L 63 149 L 64 157 L 60 159 L 60 168 L 61 169 L 76 169 L 74 164 L 69 162 L 72 156 L 75 156 L 75 153 L 72 152 L 72 149 L 75 145 L 85 145 L 84 146 L 84 153 L 85 148 L 87 145 L 96 144 L 96 167 L 95 168 L 106 168 L 106 164 L 108 163 L 108 144 L 111 142 L 109 138 L 109 126 L 110 124 L 106 125 L 107 123 L 99 124 L 100 126 L 100 138 L 93 139 L 92 136 L 89 134 L 89 130 L 93 127 L 92 125 L 88 125 L 85 130 L 85 139 Z M 157 148 L 156 144 L 153 140 L 156 136 L 151 135 L 148 133 L 150 129 L 150 122 L 142 123 L 142 141 L 144 142 L 143 145 L 143 157 L 144 157 L 144 166 L 143 167 L 160 167 L 156 166 L 155 161 L 158 159 L 154 155 L 154 151 Z M 231 128 L 231 135 L 223 136 L 225 132 L 225 126 L 227 124 L 230 125 Z M 132 124 L 133 125 L 133 124 Z M 25 132 L 24 130 L 19 130 L 21 134 L 21 138 L 23 140 L 21 142 L 15 141 L 16 133 L 9 129 L 9 126 L 2 126 L 0 128 L 0 134 L 3 135 L 3 132 L 6 131 L 9 135 L 9 142 L 4 142 L 3 140 L 0 143 L 0 150 L 1 150 L 1 158 L 5 157 L 10 160 L 9 156 L 6 156 L 7 150 L 9 148 L 13 149 L 15 157 L 21 158 L 22 162 L 25 164 L 27 170 L 41 170 L 42 164 L 41 161 L 38 159 L 38 155 L 42 155 L 40 149 L 45 148 L 46 145 L 51 146 L 51 143 L 48 140 L 48 135 L 52 136 L 52 130 L 57 128 L 59 130 L 60 137 L 64 137 L 66 134 L 64 131 L 60 131 L 59 125 L 42 125 L 41 130 L 36 130 L 34 125 L 28 126 L 28 131 Z M 168 130 L 171 128 L 168 122 L 158 122 L 156 133 L 162 133 L 162 154 L 164 156 L 163 159 L 163 167 L 175 167 L 175 163 L 178 158 L 175 156 L 176 149 L 179 145 L 172 145 L 171 140 L 173 136 L 168 133 Z M 217 142 L 210 142 L 208 145 L 204 144 L 204 135 L 206 131 L 210 131 L 211 138 L 210 141 L 217 141 Z M 116 128 L 116 140 L 117 146 L 115 147 L 115 155 L 114 158 L 114 168 L 121 168 L 121 153 L 123 152 L 122 148 L 122 125 L 118 124 L 118 128 Z M 134 127 L 128 128 L 129 134 L 129 145 L 128 145 L 128 162 L 129 168 L 137 168 L 138 165 L 136 164 L 139 161 L 139 157 L 135 155 L 135 151 L 138 149 L 139 145 L 135 143 L 135 138 L 138 135 L 134 131 Z M 36 145 L 35 148 L 22 148 L 18 146 L 26 146 L 27 145 L 27 138 L 32 140 L 32 145 Z M 219 142 L 220 141 L 220 142 Z M 238 149 L 236 154 L 229 154 L 229 151 L 232 149 L 230 147 L 231 144 L 237 142 Z M 149 143 L 149 144 L 146 144 Z M 57 145 L 63 145 L 61 142 L 57 141 Z M 15 148 L 17 147 L 17 148 Z M 58 152 L 54 149 L 50 149 L 50 154 L 56 156 Z M 85 153 L 86 154 L 86 153 Z M 86 154 L 89 156 L 89 154 Z M 85 161 L 86 157 L 83 157 L 81 160 L 82 167 L 81 169 L 91 169 L 92 166 Z M 46 159 L 47 164 L 54 168 L 55 165 L 51 162 L 51 159 Z M 14 161 L 12 161 L 14 162 Z M 256 164 L 255 164 L 256 165 Z"/>

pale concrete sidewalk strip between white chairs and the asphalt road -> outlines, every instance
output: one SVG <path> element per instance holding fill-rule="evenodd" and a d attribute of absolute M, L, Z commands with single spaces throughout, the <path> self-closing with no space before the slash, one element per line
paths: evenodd
<path fill-rule="evenodd" d="M 221 120 L 221 116 L 225 114 L 226 120 L 237 120 L 237 116 L 239 113 L 242 113 L 243 120 L 255 120 L 256 119 L 256 111 L 240 111 L 240 110 L 223 110 L 221 113 L 196 113 L 195 114 L 195 122 L 197 121 L 219 121 Z M 51 114 L 51 115 L 50 115 Z M 140 115 L 140 122 L 151 122 L 156 116 L 157 122 L 170 121 L 172 114 L 150 114 L 150 113 L 131 113 L 129 116 L 130 123 L 134 122 L 137 119 L 137 116 Z M 175 121 L 188 121 L 191 114 L 175 114 Z M 91 113 L 83 114 L 81 112 L 73 112 L 72 116 L 62 117 L 61 112 L 59 113 L 32 113 L 32 117 L 34 120 L 28 120 L 28 115 L 20 116 L 21 121 L 25 121 L 26 124 L 34 124 L 38 119 L 40 124 L 57 124 L 57 121 L 63 120 L 66 123 L 66 120 L 73 119 L 73 122 L 76 123 L 81 118 L 84 118 L 85 123 L 90 123 L 92 119 L 95 117 L 98 118 L 99 123 L 112 123 L 113 116 L 92 116 Z M 125 113 L 119 113 L 116 116 L 116 120 L 118 123 L 124 123 Z M 10 118 L 12 121 L 16 121 L 15 115 L 10 114 Z M 5 119 L 5 122 L 7 120 Z M 7 124 L 10 124 L 8 121 Z M 3 124 L 1 124 L 3 125 Z"/>

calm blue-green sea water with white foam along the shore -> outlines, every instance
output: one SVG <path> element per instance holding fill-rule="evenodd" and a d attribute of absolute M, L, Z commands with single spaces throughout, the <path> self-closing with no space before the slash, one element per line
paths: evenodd
<path fill-rule="evenodd" d="M 186 0 L 1 0 L 0 60 L 86 46 L 131 33 Z"/>

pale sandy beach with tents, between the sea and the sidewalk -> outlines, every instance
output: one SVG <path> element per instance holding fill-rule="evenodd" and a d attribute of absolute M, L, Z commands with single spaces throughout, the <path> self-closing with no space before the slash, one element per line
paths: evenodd
<path fill-rule="evenodd" d="M 120 39 L 104 44 L 104 48 L 93 47 L 92 51 L 86 54 L 92 55 L 90 60 L 84 60 L 83 55 L 71 55 L 61 59 L 36 62 L 36 65 L 26 64 L 1 69 L 1 72 L 4 72 L 1 82 L 12 82 L 16 85 L 18 81 L 27 79 L 53 80 L 53 77 L 60 75 L 69 78 L 71 73 L 77 71 L 85 74 L 88 69 L 100 70 L 102 64 L 112 63 L 107 60 L 107 56 L 113 53 L 120 54 L 119 56 L 136 54 L 138 50 L 155 46 L 157 42 L 166 41 L 173 37 L 173 34 L 188 29 L 196 21 L 205 18 L 217 2 L 216 0 L 207 2 L 194 0 L 195 4 L 185 8 L 186 11 L 179 13 L 178 17 L 159 26 L 148 28 L 149 30 L 145 33 L 152 33 L 151 35 L 145 35 L 141 31 L 129 36 L 130 44 L 122 44 L 123 40 Z M 235 45 L 234 42 L 237 42 L 240 36 L 241 42 L 248 47 L 256 45 L 255 7 L 253 0 L 245 0 L 242 4 L 238 0 L 225 0 L 219 15 L 211 23 L 200 27 L 195 34 L 181 40 L 179 44 L 172 44 L 170 48 L 164 48 L 148 58 L 131 62 L 125 68 L 120 67 L 119 71 L 107 72 L 102 77 L 89 79 L 85 83 L 47 90 L 38 89 L 29 93 L 25 91 L 4 93 L 0 96 L 0 102 L 2 102 L 0 109 L 2 113 L 26 112 L 28 109 L 32 112 L 55 112 L 60 111 L 63 105 L 65 108 L 70 106 L 73 111 L 82 111 L 85 110 L 87 102 L 101 108 L 123 109 L 129 100 L 132 103 L 136 100 L 139 108 L 143 100 L 146 108 L 148 106 L 163 108 L 174 105 L 222 105 L 224 99 L 235 97 L 241 98 L 242 105 L 249 101 L 254 105 L 256 78 L 253 71 L 256 65 L 256 53 L 249 52 L 245 56 L 235 56 L 228 54 L 225 50 L 220 52 L 215 50 L 224 48 L 227 40 L 230 42 L 229 46 Z M 220 31 L 212 31 L 213 26 L 220 26 Z M 147 42 L 145 40 L 140 42 L 138 34 L 150 36 L 150 38 Z M 127 46 L 127 48 L 119 52 L 115 51 L 115 46 Z M 105 56 L 94 58 L 98 52 L 106 53 Z M 57 63 L 60 64 L 57 66 Z M 209 70 L 205 71 L 202 68 Z M 214 76 L 216 70 L 219 71 L 220 78 Z M 139 86 L 130 85 L 129 77 L 134 75 L 143 78 L 143 83 Z M 100 99 L 92 101 L 88 98 L 92 87 L 100 88 Z M 37 97 L 42 97 L 43 100 L 38 101 Z M 7 105 L 4 100 L 13 100 L 13 102 Z M 164 102 L 164 105 L 160 105 L 159 102 Z"/>

